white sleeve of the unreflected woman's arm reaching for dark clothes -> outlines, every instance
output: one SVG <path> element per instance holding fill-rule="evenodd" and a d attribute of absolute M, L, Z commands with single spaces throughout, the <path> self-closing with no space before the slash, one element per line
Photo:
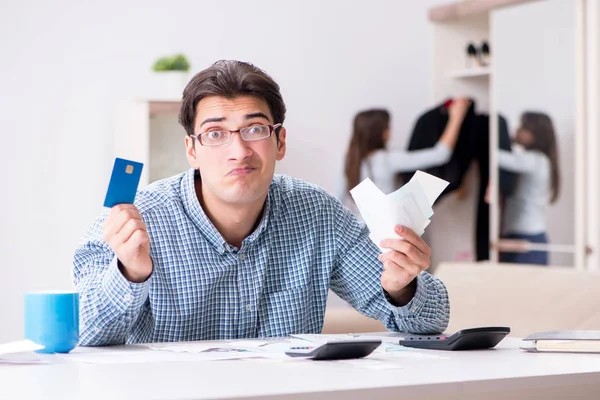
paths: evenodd
<path fill-rule="evenodd" d="M 438 142 L 434 147 L 411 151 L 388 152 L 390 169 L 394 172 L 410 172 L 446 164 L 450 161 L 452 150 Z"/>

